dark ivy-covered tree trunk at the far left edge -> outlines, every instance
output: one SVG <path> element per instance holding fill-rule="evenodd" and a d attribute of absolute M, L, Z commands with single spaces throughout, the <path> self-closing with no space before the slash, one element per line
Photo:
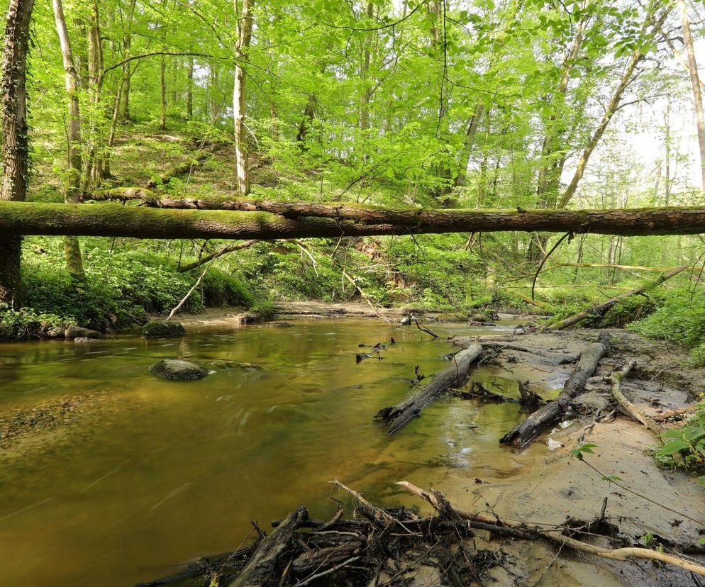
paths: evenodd
<path fill-rule="evenodd" d="M 34 0 L 10 0 L 0 78 L 2 107 L 2 185 L 0 201 L 23 201 L 27 193 L 27 53 Z M 0 303 L 21 304 L 22 237 L 0 237 Z"/>

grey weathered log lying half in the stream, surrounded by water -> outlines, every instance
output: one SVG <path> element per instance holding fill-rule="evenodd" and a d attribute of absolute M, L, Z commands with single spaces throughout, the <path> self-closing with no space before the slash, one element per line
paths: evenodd
<path fill-rule="evenodd" d="M 439 371 L 431 381 L 421 387 L 411 398 L 379 410 L 374 416 L 384 422 L 387 434 L 392 435 L 410 420 L 416 418 L 423 408 L 450 388 L 460 387 L 467 381 L 467 371 L 472 362 L 482 353 L 482 345 L 474 344 L 455 354 L 450 366 Z"/>

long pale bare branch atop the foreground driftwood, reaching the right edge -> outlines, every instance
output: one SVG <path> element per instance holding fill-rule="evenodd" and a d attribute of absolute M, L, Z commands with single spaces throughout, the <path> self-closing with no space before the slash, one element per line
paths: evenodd
<path fill-rule="evenodd" d="M 443 497 L 443 494 L 438 493 L 438 491 L 423 491 L 423 489 L 416 487 L 413 483 L 409 483 L 409 481 L 399 481 L 396 485 L 404 488 L 406 491 L 409 491 L 409 493 L 426 500 L 433 506 L 433 508 L 435 508 L 435 510 L 438 511 L 441 516 L 447 517 L 450 512 L 457 516 L 457 518 L 467 520 L 471 528 L 476 527 L 479 530 L 488 530 L 489 532 L 502 535 L 507 535 L 507 530 L 514 530 L 514 532 L 509 532 L 509 534 L 516 538 L 548 540 L 558 544 L 560 549 L 563 547 L 568 547 L 579 552 L 594 554 L 597 557 L 617 561 L 626 561 L 628 559 L 661 561 L 666 564 L 678 566 L 679 568 L 690 571 L 691 573 L 705 576 L 704 566 L 695 564 L 680 557 L 676 557 L 674 554 L 666 554 L 665 552 L 660 552 L 658 550 L 640 547 L 623 547 L 617 549 L 600 547 L 596 544 L 590 544 L 589 542 L 583 542 L 582 540 L 569 537 L 560 530 L 546 530 L 545 526 L 537 526 L 527 524 L 526 522 L 515 522 L 514 520 L 500 519 L 495 515 L 465 512 L 450 504 L 450 502 Z"/>

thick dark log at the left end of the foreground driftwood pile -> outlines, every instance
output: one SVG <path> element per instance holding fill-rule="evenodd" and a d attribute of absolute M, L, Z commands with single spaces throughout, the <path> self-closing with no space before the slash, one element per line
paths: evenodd
<path fill-rule="evenodd" d="M 290 513 L 269 536 L 265 536 L 257 544 L 252 558 L 240 572 L 231 587 L 255 587 L 272 584 L 277 561 L 294 539 L 294 533 L 302 522 L 309 517 L 309 512 L 303 505 Z"/>

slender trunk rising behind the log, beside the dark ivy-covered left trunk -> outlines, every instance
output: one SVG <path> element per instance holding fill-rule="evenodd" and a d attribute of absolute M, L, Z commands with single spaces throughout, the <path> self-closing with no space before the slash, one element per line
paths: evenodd
<path fill-rule="evenodd" d="M 68 178 L 65 201 L 79 203 L 81 201 L 81 118 L 79 114 L 79 79 L 74 66 L 69 32 L 66 27 L 62 0 L 52 0 L 56 30 L 61 45 L 61 55 L 64 64 L 66 93 L 69 97 L 69 118 L 67 121 Z M 67 236 L 64 239 L 66 265 L 70 276 L 83 279 L 83 263 L 77 237 Z"/>

